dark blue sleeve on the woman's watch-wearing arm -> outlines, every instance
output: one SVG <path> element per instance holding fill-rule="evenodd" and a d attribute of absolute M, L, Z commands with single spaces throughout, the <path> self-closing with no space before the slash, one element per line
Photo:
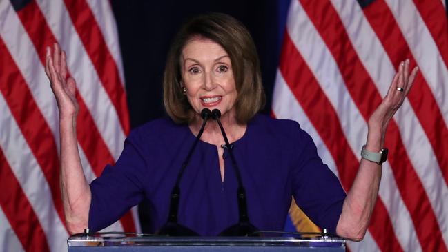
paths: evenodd
<path fill-rule="evenodd" d="M 321 229 L 335 235 L 346 193 L 338 177 L 323 164 L 311 136 L 296 122 L 291 132 L 297 154 L 291 172 L 295 202 Z"/>

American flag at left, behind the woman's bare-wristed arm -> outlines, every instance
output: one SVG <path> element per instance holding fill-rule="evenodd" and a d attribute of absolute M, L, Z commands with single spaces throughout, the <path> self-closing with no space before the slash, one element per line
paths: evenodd
<path fill-rule="evenodd" d="M 77 79 L 78 144 L 90 182 L 130 130 L 109 1 L 0 1 L 0 251 L 66 251 L 59 112 L 44 72 L 59 43 Z M 135 209 L 106 230 L 139 231 Z"/>

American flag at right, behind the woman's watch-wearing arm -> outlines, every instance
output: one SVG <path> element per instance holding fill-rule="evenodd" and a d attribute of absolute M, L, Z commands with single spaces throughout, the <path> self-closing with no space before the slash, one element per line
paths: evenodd
<path fill-rule="evenodd" d="M 346 191 L 400 61 L 420 71 L 393 117 L 371 224 L 351 251 L 447 251 L 448 26 L 441 0 L 293 0 L 273 115 L 313 137 Z"/>

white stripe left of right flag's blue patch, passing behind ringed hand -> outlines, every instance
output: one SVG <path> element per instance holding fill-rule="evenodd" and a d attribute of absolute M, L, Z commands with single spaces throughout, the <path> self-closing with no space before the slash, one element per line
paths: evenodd
<path fill-rule="evenodd" d="M 390 81 L 395 75 L 395 69 L 384 52 L 382 44 L 365 19 L 360 6 L 344 5 L 335 0 L 333 0 L 333 6 L 344 23 L 358 57 L 369 72 L 382 97 L 384 97 L 387 94 Z M 366 48 L 369 48 L 369 50 L 366 50 Z M 400 110 L 394 116 L 394 120 L 400 129 L 400 136 L 405 144 L 411 164 L 418 173 L 434 213 L 436 213 L 440 229 L 448 231 L 448 222 L 446 221 L 448 201 L 440 200 L 441 198 L 448 198 L 448 186 L 445 183 L 429 139 L 408 99 L 405 99 Z M 409 125 L 413 127 L 411 128 Z M 442 236 L 448 244 L 448 232 L 442 232 Z"/>

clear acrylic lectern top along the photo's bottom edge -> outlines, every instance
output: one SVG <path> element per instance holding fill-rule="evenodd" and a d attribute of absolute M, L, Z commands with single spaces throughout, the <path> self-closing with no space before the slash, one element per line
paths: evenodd
<path fill-rule="evenodd" d="M 345 251 L 345 240 L 332 237 L 160 237 L 92 236 L 68 239 L 68 252 L 142 252 L 142 251 Z"/>

